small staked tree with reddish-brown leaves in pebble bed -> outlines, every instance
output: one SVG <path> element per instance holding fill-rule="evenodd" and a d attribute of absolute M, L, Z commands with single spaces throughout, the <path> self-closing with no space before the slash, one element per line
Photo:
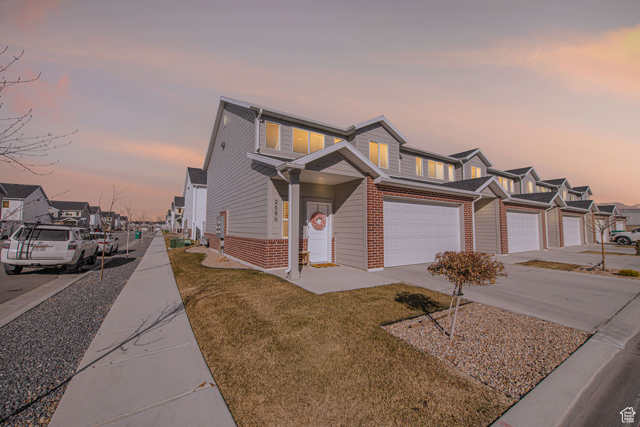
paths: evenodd
<path fill-rule="evenodd" d="M 468 251 L 456 252 L 447 251 L 436 254 L 435 262 L 431 264 L 427 270 L 434 276 L 444 276 L 454 286 L 451 296 L 451 304 L 449 305 L 449 314 L 453 300 L 456 300 L 456 309 L 453 312 L 451 321 L 451 331 L 449 339 L 453 339 L 456 329 L 456 318 L 458 317 L 458 306 L 460 305 L 460 296 L 463 295 L 462 287 L 468 286 L 489 286 L 497 282 L 498 277 L 507 277 L 504 271 L 504 264 L 493 259 L 493 254 L 486 252 Z M 447 314 L 447 319 L 449 319 Z"/>

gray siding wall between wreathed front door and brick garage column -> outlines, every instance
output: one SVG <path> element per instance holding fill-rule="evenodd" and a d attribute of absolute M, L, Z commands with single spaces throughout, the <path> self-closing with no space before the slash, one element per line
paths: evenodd
<path fill-rule="evenodd" d="M 358 179 L 333 186 L 335 262 L 362 269 L 366 269 L 364 185 L 364 179 Z"/>

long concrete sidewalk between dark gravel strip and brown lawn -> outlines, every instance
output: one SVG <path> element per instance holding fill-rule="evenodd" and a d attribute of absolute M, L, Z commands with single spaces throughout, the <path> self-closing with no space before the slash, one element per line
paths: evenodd
<path fill-rule="evenodd" d="M 103 425 L 236 426 L 198 348 L 161 234 L 102 322 L 49 424 Z"/>

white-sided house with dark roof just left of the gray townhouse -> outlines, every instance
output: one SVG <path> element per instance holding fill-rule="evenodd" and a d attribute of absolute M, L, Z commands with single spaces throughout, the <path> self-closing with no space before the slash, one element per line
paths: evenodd
<path fill-rule="evenodd" d="M 191 239 L 204 234 L 207 218 L 207 172 L 200 168 L 187 168 L 184 177 L 184 214 L 182 226 Z"/>

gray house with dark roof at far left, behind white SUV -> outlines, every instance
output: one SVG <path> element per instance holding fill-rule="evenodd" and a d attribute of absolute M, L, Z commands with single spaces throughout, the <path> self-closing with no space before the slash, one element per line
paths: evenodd
<path fill-rule="evenodd" d="M 51 223 L 47 195 L 38 185 L 0 182 L 0 236 L 9 236 L 21 223 Z"/>

